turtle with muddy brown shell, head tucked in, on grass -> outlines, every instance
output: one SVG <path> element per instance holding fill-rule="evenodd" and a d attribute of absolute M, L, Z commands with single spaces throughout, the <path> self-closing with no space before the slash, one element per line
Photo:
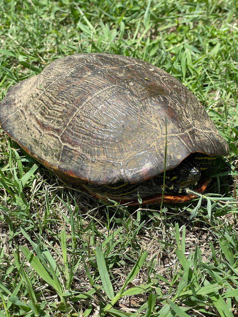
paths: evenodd
<path fill-rule="evenodd" d="M 123 204 L 194 199 L 228 144 L 197 98 L 129 56 L 75 54 L 9 88 L 2 129 L 57 177 Z M 164 173 L 165 171 L 165 173 Z M 201 176 L 202 175 L 202 176 Z M 138 196 L 139 195 L 139 196 Z"/>

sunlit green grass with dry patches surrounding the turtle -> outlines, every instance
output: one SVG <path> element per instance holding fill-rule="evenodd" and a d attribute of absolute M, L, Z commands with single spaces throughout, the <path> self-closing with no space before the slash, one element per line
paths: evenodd
<path fill-rule="evenodd" d="M 0 0 L 0 87 L 69 54 L 173 74 L 228 141 L 211 194 L 127 208 L 58 180 L 0 130 L 0 317 L 237 316 L 238 7 L 212 1 Z"/>

